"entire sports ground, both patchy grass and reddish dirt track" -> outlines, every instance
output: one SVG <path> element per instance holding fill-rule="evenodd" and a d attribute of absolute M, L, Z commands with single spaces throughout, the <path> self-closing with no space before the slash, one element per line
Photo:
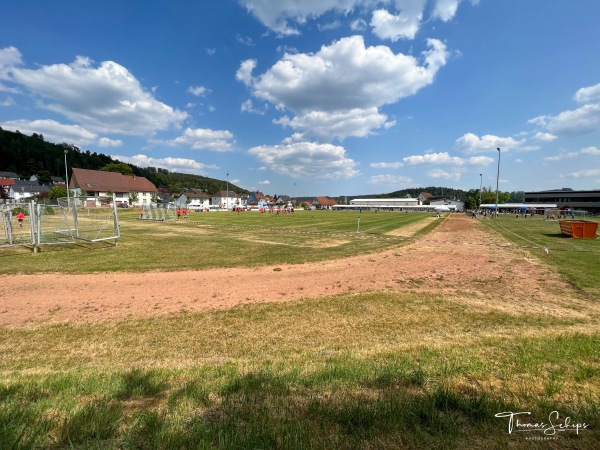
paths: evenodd
<path fill-rule="evenodd" d="M 600 440 L 598 239 L 513 216 L 119 213 L 116 247 L 0 253 L 0 448 Z"/>

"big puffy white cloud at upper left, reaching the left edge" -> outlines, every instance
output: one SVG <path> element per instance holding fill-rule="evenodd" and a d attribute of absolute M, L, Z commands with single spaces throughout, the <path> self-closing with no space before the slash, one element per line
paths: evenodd
<path fill-rule="evenodd" d="M 4 49 L 0 77 L 40 96 L 41 107 L 92 132 L 151 135 L 177 128 L 188 117 L 156 100 L 116 62 L 105 61 L 94 67 L 89 58 L 79 56 L 71 64 L 25 69 L 16 65 L 18 58 L 11 49 Z"/>

